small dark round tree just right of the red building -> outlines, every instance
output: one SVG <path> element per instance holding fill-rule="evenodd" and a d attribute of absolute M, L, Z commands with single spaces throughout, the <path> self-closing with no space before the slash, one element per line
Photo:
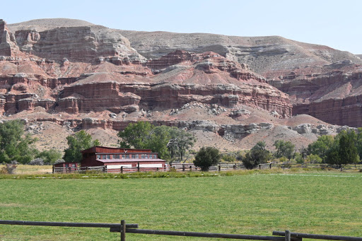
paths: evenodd
<path fill-rule="evenodd" d="M 218 149 L 208 146 L 202 147 L 195 155 L 194 165 L 201 167 L 202 171 L 208 171 L 211 165 L 216 165 L 220 162 L 221 155 Z"/>

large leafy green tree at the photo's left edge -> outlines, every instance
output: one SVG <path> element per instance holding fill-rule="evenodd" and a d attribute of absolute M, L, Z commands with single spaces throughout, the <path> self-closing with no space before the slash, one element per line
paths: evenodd
<path fill-rule="evenodd" d="M 12 120 L 0 124 L 0 162 L 29 163 L 38 151 L 32 146 L 37 139 L 30 134 L 24 135 L 24 125 L 20 120 Z"/>

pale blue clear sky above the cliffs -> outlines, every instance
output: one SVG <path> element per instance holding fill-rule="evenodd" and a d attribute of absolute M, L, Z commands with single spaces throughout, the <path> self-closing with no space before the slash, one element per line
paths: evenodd
<path fill-rule="evenodd" d="M 74 18 L 108 28 L 236 36 L 279 35 L 362 54 L 360 0 L 1 1 L 0 18 Z"/>

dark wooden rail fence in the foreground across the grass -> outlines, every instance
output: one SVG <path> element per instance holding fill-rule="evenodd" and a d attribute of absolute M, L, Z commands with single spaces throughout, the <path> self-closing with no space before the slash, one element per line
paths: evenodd
<path fill-rule="evenodd" d="M 139 225 L 126 223 L 122 220 L 120 223 L 61 223 L 61 222 L 35 222 L 35 221 L 9 221 L 0 220 L 0 224 L 7 225 L 42 225 L 59 227 L 86 227 L 86 228 L 110 228 L 110 232 L 120 233 L 121 241 L 126 241 L 126 233 L 140 233 L 148 235 L 172 235 L 182 237 L 216 237 L 237 240 L 271 240 L 271 241 L 302 241 L 303 238 L 317 240 L 341 240 L 341 241 L 362 241 L 362 237 L 336 236 L 336 235 L 315 235 L 308 233 L 293 233 L 289 230 L 285 232 L 273 231 L 274 236 L 262 235 L 237 235 L 226 233 L 198 233 L 168 230 L 149 230 L 139 229 Z"/>

